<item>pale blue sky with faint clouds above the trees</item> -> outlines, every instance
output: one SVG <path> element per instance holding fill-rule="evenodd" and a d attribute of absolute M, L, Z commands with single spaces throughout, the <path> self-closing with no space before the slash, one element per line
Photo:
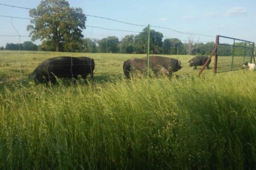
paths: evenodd
<path fill-rule="evenodd" d="M 201 33 L 205 35 L 224 35 L 236 37 L 249 41 L 256 41 L 256 1 L 255 0 L 194 0 L 194 1 L 102 1 L 102 0 L 70 0 L 71 7 L 81 7 L 84 14 L 103 16 L 142 25 L 156 25 L 176 29 L 182 32 Z M 36 8 L 39 0 L 10 0 L 1 1 L 6 5 Z M 18 16 L 29 18 L 28 10 L 11 8 L 0 5 L 0 15 Z M 26 19 L 13 19 L 0 17 L 0 35 L 20 35 L 27 36 L 27 25 L 30 23 Z M 144 27 L 127 25 L 99 18 L 88 16 L 86 25 L 104 27 L 109 29 L 123 29 L 141 32 Z M 151 28 L 162 32 L 166 37 L 176 37 L 180 40 L 188 40 L 189 35 L 176 33 L 174 31 Z M 102 39 L 107 36 L 117 36 L 119 40 L 129 32 L 107 31 L 104 29 L 87 27 L 83 32 L 85 37 Z M 135 34 L 135 33 L 133 33 Z M 214 37 L 192 36 L 193 41 L 214 41 Z M 30 40 L 29 37 L 20 37 L 20 42 Z M 0 37 L 0 46 L 5 46 L 7 42 L 19 42 L 18 37 Z M 40 41 L 36 41 L 40 44 Z"/>

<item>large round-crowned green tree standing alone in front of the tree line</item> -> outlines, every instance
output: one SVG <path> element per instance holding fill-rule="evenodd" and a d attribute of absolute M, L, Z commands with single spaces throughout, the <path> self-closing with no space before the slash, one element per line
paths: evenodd
<path fill-rule="evenodd" d="M 41 40 L 56 51 L 72 50 L 82 43 L 86 16 L 81 8 L 69 7 L 65 0 L 44 0 L 30 10 L 27 26 L 32 40 Z"/>

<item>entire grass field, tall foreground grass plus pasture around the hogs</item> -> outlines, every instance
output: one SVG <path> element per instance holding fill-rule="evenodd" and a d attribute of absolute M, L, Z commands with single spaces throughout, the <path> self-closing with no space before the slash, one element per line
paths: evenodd
<path fill-rule="evenodd" d="M 6 75 L 25 79 L 55 56 L 94 58 L 96 83 L 0 84 L 0 169 L 256 168 L 255 72 L 199 78 L 185 64 L 193 56 L 170 56 L 183 63 L 175 74 L 189 76 L 127 81 L 123 61 L 145 55 L 2 52 L 0 60 Z"/>

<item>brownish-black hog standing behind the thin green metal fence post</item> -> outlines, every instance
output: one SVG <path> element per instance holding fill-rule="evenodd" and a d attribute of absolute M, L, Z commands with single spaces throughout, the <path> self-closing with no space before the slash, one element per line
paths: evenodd
<path fill-rule="evenodd" d="M 172 73 L 181 69 L 181 62 L 174 58 L 150 56 L 149 57 L 150 69 L 154 74 L 166 74 L 171 76 Z M 130 74 L 140 71 L 146 73 L 147 71 L 147 57 L 133 58 L 123 62 L 123 73 L 126 78 L 130 78 Z"/>

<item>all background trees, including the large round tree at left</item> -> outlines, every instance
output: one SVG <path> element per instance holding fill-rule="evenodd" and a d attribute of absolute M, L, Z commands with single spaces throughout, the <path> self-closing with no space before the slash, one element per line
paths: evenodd
<path fill-rule="evenodd" d="M 31 40 L 40 40 L 41 45 L 31 41 L 23 44 L 7 43 L 6 50 L 43 50 L 57 52 L 87 52 L 87 53 L 135 53 L 147 52 L 147 28 L 138 35 L 126 35 L 122 40 L 116 36 L 103 39 L 88 39 L 82 35 L 86 29 L 86 16 L 81 8 L 69 6 L 65 0 L 43 0 L 37 8 L 29 11 Z M 195 42 L 188 39 L 181 42 L 177 38 L 163 39 L 163 33 L 150 30 L 150 54 L 191 54 L 209 55 L 214 48 L 214 42 Z M 236 44 L 240 45 L 240 44 Z M 3 50 L 3 46 L 0 48 Z M 222 56 L 233 54 L 232 46 L 221 45 L 218 53 Z M 235 48 L 234 54 L 249 53 L 243 48 Z"/>

